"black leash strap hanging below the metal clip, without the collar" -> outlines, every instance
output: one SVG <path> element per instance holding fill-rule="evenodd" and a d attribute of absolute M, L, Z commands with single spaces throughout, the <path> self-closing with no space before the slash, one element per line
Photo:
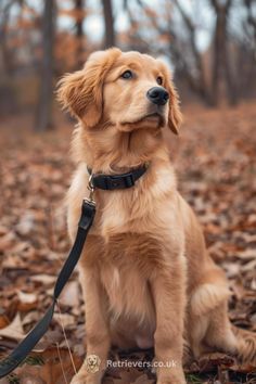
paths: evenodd
<path fill-rule="evenodd" d="M 81 216 L 78 222 L 76 240 L 57 277 L 53 292 L 52 305 L 44 313 L 43 318 L 35 325 L 22 343 L 18 344 L 18 346 L 8 357 L 0 360 L 0 379 L 7 376 L 15 369 L 47 332 L 54 313 L 56 300 L 80 258 L 87 234 L 93 222 L 94 215 L 94 202 L 85 200 L 81 206 Z"/>

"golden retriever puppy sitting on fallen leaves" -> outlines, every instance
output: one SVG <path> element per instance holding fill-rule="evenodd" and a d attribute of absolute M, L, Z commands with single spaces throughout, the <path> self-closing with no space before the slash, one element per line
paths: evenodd
<path fill-rule="evenodd" d="M 97 215 L 79 272 L 87 356 L 100 367 L 90 372 L 85 361 L 72 383 L 100 384 L 112 345 L 154 347 L 157 384 L 185 383 L 188 350 L 255 361 L 256 337 L 231 325 L 225 273 L 177 190 L 163 130 L 178 133 L 181 113 L 167 66 L 139 52 L 94 52 L 62 78 L 59 100 L 78 120 L 67 195 L 73 240 L 89 193 L 88 167 L 94 175 L 148 167 L 132 188 L 94 191 Z"/>

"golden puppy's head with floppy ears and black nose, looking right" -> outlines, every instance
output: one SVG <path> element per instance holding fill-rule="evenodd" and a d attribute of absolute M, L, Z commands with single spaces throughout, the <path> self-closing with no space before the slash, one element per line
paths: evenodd
<path fill-rule="evenodd" d="M 181 123 L 167 66 L 139 52 L 92 53 L 84 69 L 61 79 L 57 95 L 87 128 L 100 123 L 121 131 L 168 126 L 178 133 Z"/>

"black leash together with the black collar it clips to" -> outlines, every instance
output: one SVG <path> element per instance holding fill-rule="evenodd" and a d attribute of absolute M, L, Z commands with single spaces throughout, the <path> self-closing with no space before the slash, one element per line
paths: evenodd
<path fill-rule="evenodd" d="M 80 258 L 87 234 L 93 222 L 95 215 L 95 203 L 92 199 L 94 189 L 99 188 L 102 190 L 114 190 L 131 188 L 135 185 L 136 181 L 142 175 L 144 175 L 149 165 L 145 164 L 139 168 L 132 169 L 131 171 L 121 175 L 94 175 L 92 174 L 91 169 L 88 168 L 90 174 L 88 185 L 88 189 L 90 190 L 90 196 L 89 199 L 85 199 L 82 202 L 81 216 L 78 222 L 76 239 L 69 255 L 57 277 L 53 291 L 52 305 L 44 313 L 43 318 L 35 325 L 35 328 L 28 333 L 22 343 L 18 344 L 18 346 L 8 357 L 0 360 L 0 379 L 7 376 L 21 362 L 25 360 L 26 356 L 33 350 L 36 344 L 44 335 L 51 323 L 57 298 Z"/>

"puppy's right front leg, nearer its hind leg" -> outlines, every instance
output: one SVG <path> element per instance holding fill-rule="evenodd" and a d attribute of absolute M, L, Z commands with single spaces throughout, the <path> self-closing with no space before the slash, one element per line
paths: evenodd
<path fill-rule="evenodd" d="M 154 273 L 151 281 L 156 312 L 155 370 L 157 384 L 184 384 L 182 334 L 184 319 L 184 268 L 176 260 Z"/>

